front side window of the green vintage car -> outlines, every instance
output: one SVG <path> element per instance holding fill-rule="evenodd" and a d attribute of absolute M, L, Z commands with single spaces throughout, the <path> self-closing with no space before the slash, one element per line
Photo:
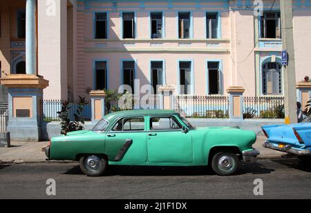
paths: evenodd
<path fill-rule="evenodd" d="M 173 116 L 150 119 L 150 130 L 180 130 L 181 128 L 182 125 Z"/>

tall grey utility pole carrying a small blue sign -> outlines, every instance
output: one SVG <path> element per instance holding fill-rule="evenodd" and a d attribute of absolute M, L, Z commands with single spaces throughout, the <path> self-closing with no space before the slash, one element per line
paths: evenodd
<path fill-rule="evenodd" d="M 292 0 L 280 0 L 282 48 L 288 52 L 288 65 L 283 66 L 285 123 L 297 123 L 296 71 L 294 58 L 294 31 L 292 23 Z"/>

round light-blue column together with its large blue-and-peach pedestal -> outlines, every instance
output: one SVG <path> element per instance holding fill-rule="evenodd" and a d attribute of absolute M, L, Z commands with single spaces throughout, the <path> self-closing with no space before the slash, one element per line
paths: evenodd
<path fill-rule="evenodd" d="M 0 79 L 8 88 L 7 129 L 12 141 L 40 141 L 43 136 L 43 90 L 49 81 L 37 75 L 36 11 L 37 0 L 26 0 L 26 74 L 8 74 Z"/>

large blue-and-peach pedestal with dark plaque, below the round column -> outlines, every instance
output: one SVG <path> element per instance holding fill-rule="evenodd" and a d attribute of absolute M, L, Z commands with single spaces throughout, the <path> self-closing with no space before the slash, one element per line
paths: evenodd
<path fill-rule="evenodd" d="M 40 141 L 43 90 L 48 81 L 32 74 L 0 79 L 8 88 L 8 132 L 12 141 Z"/>

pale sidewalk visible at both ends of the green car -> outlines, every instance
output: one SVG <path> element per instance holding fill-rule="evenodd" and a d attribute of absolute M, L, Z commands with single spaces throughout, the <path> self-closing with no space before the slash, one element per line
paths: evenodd
<path fill-rule="evenodd" d="M 261 152 L 258 159 L 281 158 L 283 152 L 263 148 L 265 136 L 258 136 L 254 148 Z M 0 148 L 0 163 L 44 163 L 46 155 L 42 148 L 48 142 L 11 142 L 12 147 Z"/>

